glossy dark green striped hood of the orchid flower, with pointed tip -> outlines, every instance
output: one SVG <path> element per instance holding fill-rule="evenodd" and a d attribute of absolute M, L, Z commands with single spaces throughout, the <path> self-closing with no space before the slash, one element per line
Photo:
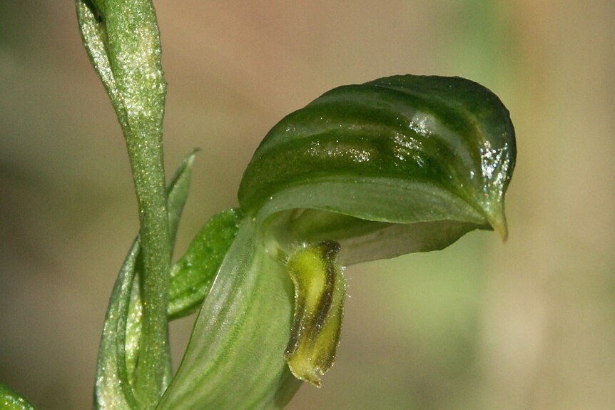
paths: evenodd
<path fill-rule="evenodd" d="M 380 78 L 335 88 L 275 125 L 239 201 L 259 225 L 275 220 L 282 241 L 340 242 L 349 265 L 442 249 L 474 229 L 505 239 L 515 156 L 509 113 L 487 88 Z"/>

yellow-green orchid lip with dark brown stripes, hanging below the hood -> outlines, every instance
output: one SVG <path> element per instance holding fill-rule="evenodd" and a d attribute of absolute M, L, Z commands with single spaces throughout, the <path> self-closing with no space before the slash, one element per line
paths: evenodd
<path fill-rule="evenodd" d="M 323 241 L 298 250 L 286 263 L 295 285 L 295 316 L 285 356 L 295 377 L 317 387 L 340 343 L 346 282 L 338 252 L 337 242 Z"/>

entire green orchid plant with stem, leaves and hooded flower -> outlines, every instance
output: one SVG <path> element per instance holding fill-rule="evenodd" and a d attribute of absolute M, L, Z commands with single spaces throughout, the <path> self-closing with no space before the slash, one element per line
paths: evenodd
<path fill-rule="evenodd" d="M 463 78 L 392 76 L 283 118 L 243 174 L 239 207 L 214 215 L 171 265 L 195 152 L 165 190 L 153 4 L 76 9 L 126 138 L 141 226 L 106 314 L 97 409 L 281 409 L 335 362 L 345 267 L 440 250 L 472 230 L 506 239 L 507 109 Z M 196 311 L 173 375 L 168 321 Z"/>

